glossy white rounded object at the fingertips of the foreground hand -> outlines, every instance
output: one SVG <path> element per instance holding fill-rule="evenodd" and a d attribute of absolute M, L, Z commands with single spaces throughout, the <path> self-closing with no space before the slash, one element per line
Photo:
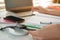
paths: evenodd
<path fill-rule="evenodd" d="M 16 36 L 23 36 L 28 34 L 28 31 L 24 29 L 6 28 L 5 31 L 7 31 L 9 34 L 16 35 Z"/>

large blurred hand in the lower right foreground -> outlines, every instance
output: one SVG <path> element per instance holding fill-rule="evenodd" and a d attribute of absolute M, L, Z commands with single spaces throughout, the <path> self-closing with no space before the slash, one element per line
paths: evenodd
<path fill-rule="evenodd" d="M 35 40 L 60 40 L 60 24 L 47 25 L 37 31 L 30 31 Z"/>

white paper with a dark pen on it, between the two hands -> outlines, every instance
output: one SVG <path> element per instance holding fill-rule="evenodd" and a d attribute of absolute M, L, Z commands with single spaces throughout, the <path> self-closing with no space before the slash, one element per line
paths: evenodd
<path fill-rule="evenodd" d="M 26 25 L 33 25 L 33 26 L 39 25 L 38 27 L 42 28 L 43 26 L 46 26 L 48 24 L 60 24 L 60 17 L 58 16 L 53 16 L 38 12 L 33 12 L 33 13 L 35 14 L 35 16 L 28 18 L 25 21 Z"/>

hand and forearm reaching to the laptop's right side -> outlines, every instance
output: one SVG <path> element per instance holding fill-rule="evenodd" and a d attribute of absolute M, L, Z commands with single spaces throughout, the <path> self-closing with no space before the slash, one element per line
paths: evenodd
<path fill-rule="evenodd" d="M 44 9 L 42 7 L 34 7 L 32 10 L 38 11 L 39 13 L 44 13 L 44 14 L 49 14 L 49 15 L 54 15 L 54 16 L 60 16 L 60 11 L 57 11 L 54 9 L 52 9 L 52 11 L 51 11 L 51 10 Z"/>

